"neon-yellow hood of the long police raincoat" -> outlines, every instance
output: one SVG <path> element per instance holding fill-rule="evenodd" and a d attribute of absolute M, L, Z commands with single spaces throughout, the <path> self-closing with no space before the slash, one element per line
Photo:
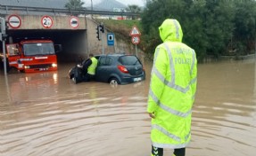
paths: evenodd
<path fill-rule="evenodd" d="M 159 27 L 159 34 L 162 42 L 182 42 L 183 32 L 178 20 L 164 20 Z"/>

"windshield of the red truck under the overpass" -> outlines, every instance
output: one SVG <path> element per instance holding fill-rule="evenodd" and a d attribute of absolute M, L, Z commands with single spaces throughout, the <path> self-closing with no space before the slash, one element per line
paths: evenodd
<path fill-rule="evenodd" d="M 26 43 L 23 49 L 25 56 L 54 54 L 53 43 Z"/>

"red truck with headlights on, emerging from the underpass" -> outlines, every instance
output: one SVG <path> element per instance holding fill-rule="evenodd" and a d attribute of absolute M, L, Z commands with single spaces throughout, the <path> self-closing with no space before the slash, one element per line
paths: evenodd
<path fill-rule="evenodd" d="M 61 45 L 54 47 L 53 41 L 48 39 L 22 40 L 20 43 L 6 44 L 7 71 L 12 68 L 24 73 L 55 71 L 57 70 L 55 52 L 61 49 Z M 1 58 L 3 60 L 3 55 Z"/>

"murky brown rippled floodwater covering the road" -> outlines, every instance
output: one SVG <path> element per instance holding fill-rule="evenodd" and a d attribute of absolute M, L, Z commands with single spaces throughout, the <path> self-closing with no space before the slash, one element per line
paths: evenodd
<path fill-rule="evenodd" d="M 45 74 L 0 74 L 1 156 L 147 156 L 150 119 L 145 82 L 112 88 L 73 84 L 73 65 Z M 254 60 L 198 66 L 190 156 L 254 156 Z M 171 151 L 165 151 L 170 155 Z"/>

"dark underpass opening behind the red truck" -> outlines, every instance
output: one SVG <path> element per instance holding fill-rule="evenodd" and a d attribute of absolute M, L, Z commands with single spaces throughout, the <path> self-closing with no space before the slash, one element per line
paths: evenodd
<path fill-rule="evenodd" d="M 77 61 L 78 56 L 85 56 L 87 52 L 87 30 L 85 29 L 7 30 L 7 34 L 6 43 L 19 43 L 24 39 L 50 39 L 54 44 L 61 44 L 62 51 L 56 53 L 57 60 L 60 63 Z M 1 46 L 1 50 L 2 48 Z"/>

